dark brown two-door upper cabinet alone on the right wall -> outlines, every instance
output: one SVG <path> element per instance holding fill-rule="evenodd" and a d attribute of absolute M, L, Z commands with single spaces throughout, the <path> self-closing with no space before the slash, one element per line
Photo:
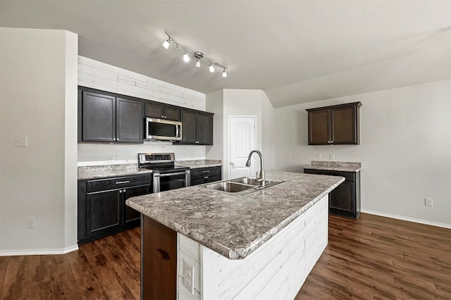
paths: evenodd
<path fill-rule="evenodd" d="M 310 108 L 309 145 L 359 144 L 360 102 Z"/>

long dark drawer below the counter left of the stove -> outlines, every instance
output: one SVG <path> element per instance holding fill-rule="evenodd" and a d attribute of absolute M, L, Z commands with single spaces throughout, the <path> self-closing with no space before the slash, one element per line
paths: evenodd
<path fill-rule="evenodd" d="M 123 187 L 134 187 L 138 185 L 150 185 L 152 175 L 114 177 L 101 180 L 88 180 L 87 192 L 100 192 L 108 189 L 120 189 Z"/>

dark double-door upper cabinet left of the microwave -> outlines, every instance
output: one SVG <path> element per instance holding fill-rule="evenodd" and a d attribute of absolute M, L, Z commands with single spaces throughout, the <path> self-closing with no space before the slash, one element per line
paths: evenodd
<path fill-rule="evenodd" d="M 142 102 L 79 90 L 79 142 L 142 143 Z"/>

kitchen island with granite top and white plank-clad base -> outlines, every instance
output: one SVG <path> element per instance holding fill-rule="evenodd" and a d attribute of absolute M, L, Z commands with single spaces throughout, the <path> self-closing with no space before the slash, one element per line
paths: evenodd
<path fill-rule="evenodd" d="M 327 244 L 328 193 L 342 177 L 234 196 L 202 186 L 128 199 L 142 218 L 142 298 L 292 299 Z"/>

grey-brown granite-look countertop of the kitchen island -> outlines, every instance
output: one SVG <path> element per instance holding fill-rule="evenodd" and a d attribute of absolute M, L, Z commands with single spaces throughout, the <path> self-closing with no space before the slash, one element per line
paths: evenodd
<path fill-rule="evenodd" d="M 251 254 L 345 180 L 302 173 L 267 173 L 283 180 L 247 196 L 193 186 L 127 200 L 149 218 L 229 259 Z"/>

